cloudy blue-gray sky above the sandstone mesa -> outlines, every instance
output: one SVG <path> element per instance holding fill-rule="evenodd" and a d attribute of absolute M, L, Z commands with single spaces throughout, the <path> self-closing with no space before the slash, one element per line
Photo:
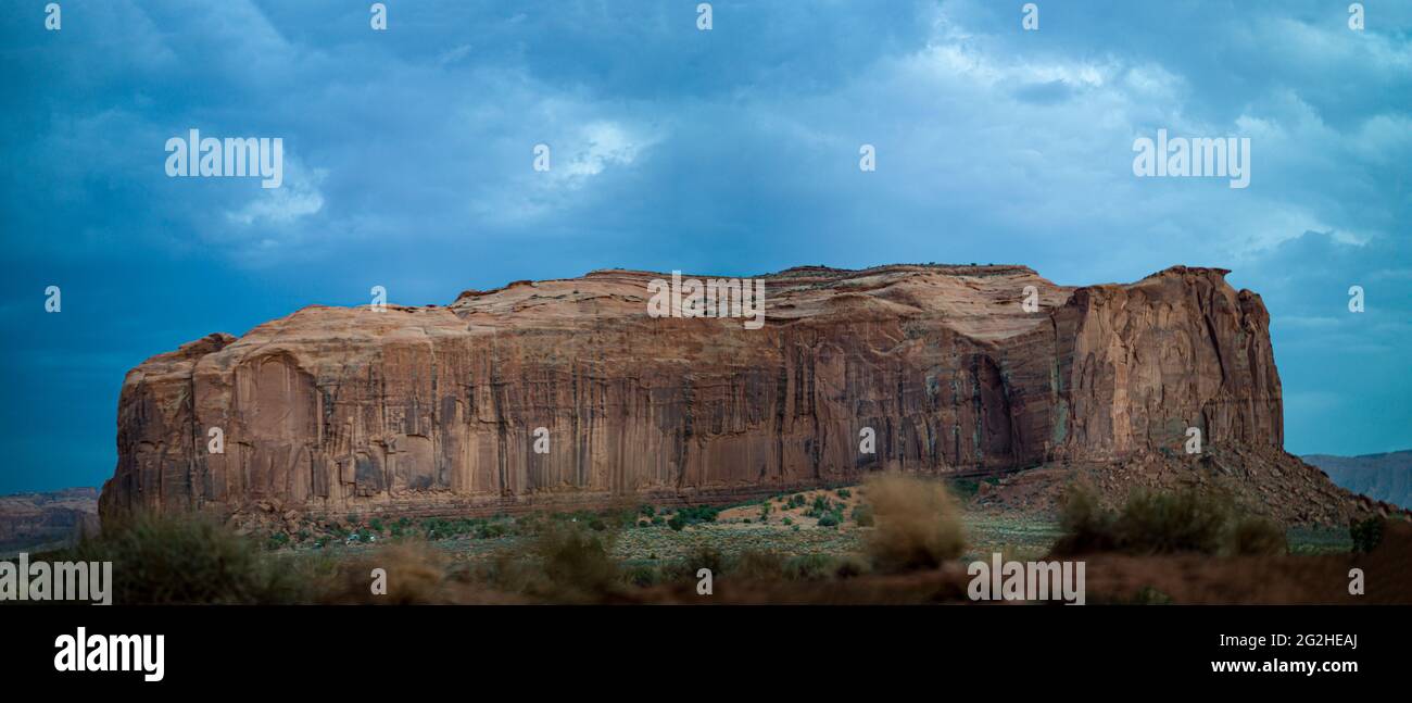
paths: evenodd
<path fill-rule="evenodd" d="M 0 493 L 110 476 L 186 340 L 604 267 L 1226 267 L 1286 449 L 1412 446 L 1412 3 L 384 1 L 0 7 Z M 167 178 L 189 128 L 281 137 L 284 186 Z M 1135 178 L 1158 128 L 1250 137 L 1250 188 Z"/>

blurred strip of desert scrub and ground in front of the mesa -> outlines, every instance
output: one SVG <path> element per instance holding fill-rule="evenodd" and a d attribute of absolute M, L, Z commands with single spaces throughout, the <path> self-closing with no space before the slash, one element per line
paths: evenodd
<path fill-rule="evenodd" d="M 308 534 L 292 536 L 140 515 L 42 558 L 110 560 L 114 601 L 136 604 L 947 603 L 966 601 L 966 562 L 993 552 L 1084 559 L 1099 590 L 1090 603 L 1250 600 L 1241 579 L 1257 601 L 1329 601 L 1333 576 L 1320 575 L 1372 559 L 1384 535 L 1401 529 L 1377 519 L 1286 529 L 1197 491 L 1134 493 L 1104 507 L 1082 486 L 1069 488 L 1052 522 L 967 514 L 957 495 L 967 490 L 890 474 L 729 507 L 313 517 Z M 376 569 L 387 575 L 385 594 L 373 593 Z M 700 569 L 712 575 L 709 596 Z M 1213 586 L 1190 590 L 1193 570 L 1210 572 Z M 1272 570 L 1295 582 L 1308 573 L 1308 587 L 1257 583 Z"/>

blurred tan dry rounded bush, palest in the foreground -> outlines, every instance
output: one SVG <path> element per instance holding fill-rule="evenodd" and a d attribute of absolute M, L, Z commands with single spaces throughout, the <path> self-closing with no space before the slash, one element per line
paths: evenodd
<path fill-rule="evenodd" d="M 875 476 L 867 483 L 867 497 L 878 522 L 867 553 L 877 567 L 931 569 L 966 548 L 960 507 L 940 481 Z"/>

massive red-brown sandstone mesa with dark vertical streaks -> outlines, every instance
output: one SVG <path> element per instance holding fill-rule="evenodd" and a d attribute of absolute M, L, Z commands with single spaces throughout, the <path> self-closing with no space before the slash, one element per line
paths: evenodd
<path fill-rule="evenodd" d="M 1268 313 L 1224 274 L 1065 288 L 1010 265 L 792 268 L 762 277 L 762 329 L 652 318 L 648 281 L 669 275 L 640 271 L 311 306 L 130 371 L 100 510 L 712 500 L 1180 452 L 1189 426 L 1278 450 Z"/>

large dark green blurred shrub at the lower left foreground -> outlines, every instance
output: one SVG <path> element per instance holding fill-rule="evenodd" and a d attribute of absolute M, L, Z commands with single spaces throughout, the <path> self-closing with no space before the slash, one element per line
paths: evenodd
<path fill-rule="evenodd" d="M 312 559 L 265 555 L 202 515 L 134 515 L 52 560 L 113 562 L 113 603 L 123 604 L 308 603 L 319 587 L 304 569 Z"/>

